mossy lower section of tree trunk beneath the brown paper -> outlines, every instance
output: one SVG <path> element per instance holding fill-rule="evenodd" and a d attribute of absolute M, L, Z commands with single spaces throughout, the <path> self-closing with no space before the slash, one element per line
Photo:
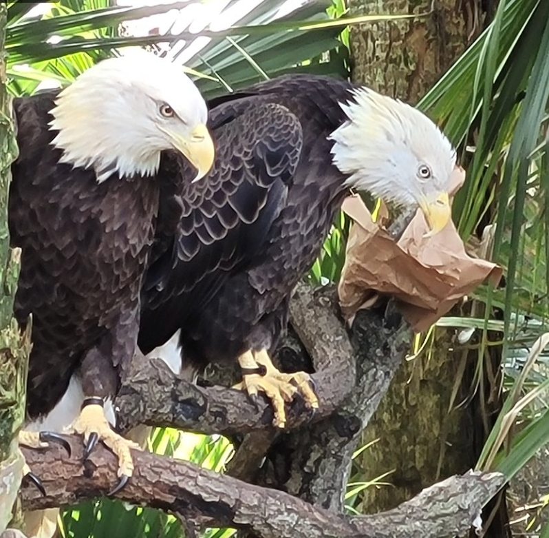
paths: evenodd
<path fill-rule="evenodd" d="M 438 479 L 474 466 L 471 413 L 449 410 L 462 367 L 451 346 L 449 336 L 438 333 L 432 353 L 402 363 L 366 428 L 364 443 L 380 439 L 359 457 L 367 478 L 394 470 L 384 479 L 391 487 L 364 491 L 363 507 L 368 512 L 393 508 Z M 460 390 L 456 402 L 464 397 Z"/>

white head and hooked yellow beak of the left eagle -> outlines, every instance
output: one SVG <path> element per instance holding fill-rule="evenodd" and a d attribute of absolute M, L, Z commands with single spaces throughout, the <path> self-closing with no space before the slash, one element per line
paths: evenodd
<path fill-rule="evenodd" d="M 51 114 L 61 162 L 93 167 L 98 182 L 114 172 L 155 174 L 164 149 L 184 154 L 197 178 L 213 164 L 204 99 L 179 66 L 154 54 L 94 65 L 58 95 Z"/>

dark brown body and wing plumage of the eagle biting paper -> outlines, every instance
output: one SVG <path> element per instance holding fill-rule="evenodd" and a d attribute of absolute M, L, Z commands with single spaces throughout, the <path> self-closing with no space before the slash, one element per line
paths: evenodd
<path fill-rule="evenodd" d="M 327 77 L 283 77 L 209 103 L 215 170 L 182 193 L 182 240 L 167 280 L 159 283 L 158 271 L 145 293 L 142 351 L 177 329 L 185 358 L 202 366 L 276 343 L 289 293 L 345 196 L 327 136 L 345 121 L 340 103 L 351 89 Z M 262 117 L 270 105 L 283 114 Z"/>

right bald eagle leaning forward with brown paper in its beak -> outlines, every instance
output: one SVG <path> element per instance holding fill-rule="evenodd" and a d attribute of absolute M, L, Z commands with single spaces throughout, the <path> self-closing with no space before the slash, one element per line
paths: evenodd
<path fill-rule="evenodd" d="M 173 369 L 238 361 L 275 426 L 310 376 L 270 360 L 290 293 L 312 266 L 349 189 L 419 206 L 433 233 L 451 217 L 455 151 L 413 107 L 324 76 L 286 76 L 214 99 L 211 172 L 184 183 L 179 236 L 145 281 L 139 346 Z M 179 364 L 177 364 L 179 362 Z"/>

